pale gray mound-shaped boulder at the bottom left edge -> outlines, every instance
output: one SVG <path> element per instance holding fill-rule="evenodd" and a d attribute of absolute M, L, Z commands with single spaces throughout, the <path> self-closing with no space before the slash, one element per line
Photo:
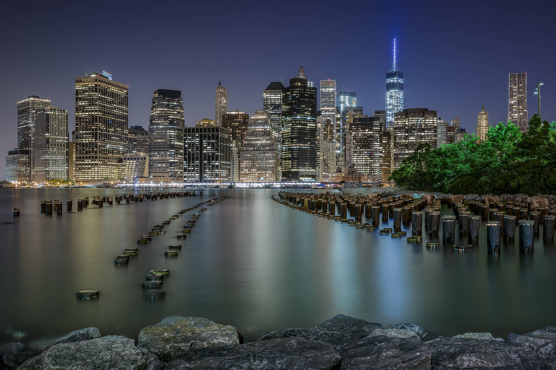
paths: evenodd
<path fill-rule="evenodd" d="M 133 339 L 107 336 L 75 343 L 59 343 L 28 359 L 19 370 L 143 370 L 147 356 Z"/>

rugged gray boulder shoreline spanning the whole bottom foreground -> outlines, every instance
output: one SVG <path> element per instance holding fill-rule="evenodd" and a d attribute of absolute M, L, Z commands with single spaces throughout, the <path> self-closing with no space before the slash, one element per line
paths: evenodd
<path fill-rule="evenodd" d="M 137 338 L 97 328 L 27 348 L 0 346 L 0 368 L 47 369 L 555 369 L 556 326 L 506 339 L 490 333 L 432 337 L 414 323 L 386 326 L 336 315 L 311 329 L 265 332 L 257 342 L 206 318 L 172 316 Z"/>

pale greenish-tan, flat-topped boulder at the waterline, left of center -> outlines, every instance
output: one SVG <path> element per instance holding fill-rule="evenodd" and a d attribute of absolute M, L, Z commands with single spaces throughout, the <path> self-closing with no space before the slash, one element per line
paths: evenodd
<path fill-rule="evenodd" d="M 182 357 L 191 349 L 239 344 L 236 328 L 202 317 L 166 317 L 141 330 L 139 346 L 164 362 Z"/>

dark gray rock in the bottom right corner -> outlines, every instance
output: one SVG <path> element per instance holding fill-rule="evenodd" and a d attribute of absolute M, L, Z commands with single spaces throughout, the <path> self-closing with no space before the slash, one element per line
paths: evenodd
<path fill-rule="evenodd" d="M 508 341 L 533 349 L 546 368 L 556 369 L 556 326 L 523 335 L 510 333 Z"/>

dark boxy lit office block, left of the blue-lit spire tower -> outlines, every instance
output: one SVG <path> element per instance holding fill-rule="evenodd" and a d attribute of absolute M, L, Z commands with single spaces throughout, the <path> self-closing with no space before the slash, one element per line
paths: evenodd
<path fill-rule="evenodd" d="M 382 179 L 383 121 L 380 117 L 358 117 L 349 125 L 353 168 L 373 181 Z"/>

